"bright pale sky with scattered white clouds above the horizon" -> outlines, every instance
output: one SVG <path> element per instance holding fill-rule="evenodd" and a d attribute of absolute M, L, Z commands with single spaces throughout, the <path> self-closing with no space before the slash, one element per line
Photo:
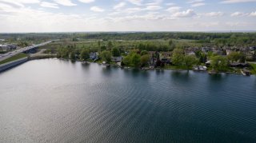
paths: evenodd
<path fill-rule="evenodd" d="M 0 33 L 256 30 L 256 0 L 0 0 Z"/>

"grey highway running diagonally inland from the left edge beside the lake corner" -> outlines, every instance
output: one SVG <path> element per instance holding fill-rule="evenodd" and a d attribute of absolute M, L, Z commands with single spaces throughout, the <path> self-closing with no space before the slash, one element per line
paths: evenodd
<path fill-rule="evenodd" d="M 52 41 L 42 42 L 41 44 L 34 45 L 34 46 L 26 46 L 24 48 L 21 48 L 21 49 L 18 49 L 18 50 L 14 50 L 14 51 L 8 52 L 6 54 L 1 54 L 0 55 L 0 62 L 5 60 L 6 58 L 13 57 L 16 54 L 20 54 L 20 53 L 26 52 L 27 50 L 32 50 L 32 49 L 37 48 L 39 46 L 45 46 L 45 45 L 49 44 L 50 42 L 52 42 Z"/>

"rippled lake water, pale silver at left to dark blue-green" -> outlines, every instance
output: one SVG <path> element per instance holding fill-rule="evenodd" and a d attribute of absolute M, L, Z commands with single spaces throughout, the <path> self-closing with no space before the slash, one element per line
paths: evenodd
<path fill-rule="evenodd" d="M 0 73 L 0 142 L 255 142 L 256 78 L 57 59 Z"/>

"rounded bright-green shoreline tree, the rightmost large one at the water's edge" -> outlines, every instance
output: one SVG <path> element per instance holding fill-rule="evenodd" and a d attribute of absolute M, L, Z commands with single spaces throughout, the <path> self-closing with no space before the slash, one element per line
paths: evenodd
<path fill-rule="evenodd" d="M 211 60 L 210 60 L 210 66 L 211 66 L 214 70 L 226 71 L 227 68 L 228 68 L 228 60 L 227 60 L 226 57 L 214 56 L 214 57 L 211 58 Z"/>

